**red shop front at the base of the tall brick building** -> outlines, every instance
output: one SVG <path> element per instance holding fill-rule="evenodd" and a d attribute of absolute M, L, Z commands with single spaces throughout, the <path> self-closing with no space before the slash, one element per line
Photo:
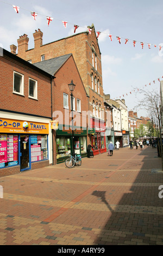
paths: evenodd
<path fill-rule="evenodd" d="M 91 144 L 94 148 L 93 152 L 96 156 L 106 152 L 106 139 L 105 139 L 105 123 L 101 120 L 91 119 L 91 128 L 88 132 L 91 136 Z"/>

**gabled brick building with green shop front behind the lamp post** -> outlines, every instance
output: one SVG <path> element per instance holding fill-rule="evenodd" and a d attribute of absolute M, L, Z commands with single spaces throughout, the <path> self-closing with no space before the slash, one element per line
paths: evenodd
<path fill-rule="evenodd" d="M 68 154 L 72 153 L 73 148 L 74 153 L 85 157 L 89 97 L 87 97 L 72 54 L 35 63 L 34 66 L 55 76 L 52 89 L 53 120 L 59 121 L 59 129 L 53 132 L 54 163 L 64 162 Z M 73 124 L 71 92 L 68 87 L 71 80 L 76 85 L 73 91 Z M 73 141 L 72 128 L 74 128 Z M 73 148 L 72 143 L 74 144 Z"/>

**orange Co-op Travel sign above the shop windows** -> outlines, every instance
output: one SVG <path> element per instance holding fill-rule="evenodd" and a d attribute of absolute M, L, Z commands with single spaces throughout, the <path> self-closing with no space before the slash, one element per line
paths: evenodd
<path fill-rule="evenodd" d="M 0 133 L 40 133 L 49 134 L 49 124 L 12 120 L 0 117 Z"/>

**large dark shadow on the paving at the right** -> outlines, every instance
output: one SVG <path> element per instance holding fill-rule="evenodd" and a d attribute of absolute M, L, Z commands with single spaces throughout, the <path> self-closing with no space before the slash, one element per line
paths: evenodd
<path fill-rule="evenodd" d="M 144 156 L 139 174 L 114 210 L 106 200 L 106 191 L 92 193 L 101 197 L 111 212 L 96 245 L 163 245 L 163 199 L 158 197 L 163 175 L 162 172 L 152 172 L 153 168 L 162 169 L 161 159 L 155 148 L 146 148 L 139 156 Z M 104 237 L 104 234 L 108 236 Z"/>

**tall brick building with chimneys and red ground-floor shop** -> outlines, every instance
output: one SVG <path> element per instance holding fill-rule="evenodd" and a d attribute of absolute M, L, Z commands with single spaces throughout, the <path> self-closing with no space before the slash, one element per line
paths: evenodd
<path fill-rule="evenodd" d="M 102 64 L 95 27 L 92 25 L 90 28 L 91 34 L 86 31 L 45 45 L 42 43 L 43 33 L 38 29 L 33 34 L 34 49 L 28 49 L 29 38 L 26 34 L 17 40 L 18 47 L 11 45 L 10 49 L 16 54 L 18 48 L 17 56 L 31 63 L 72 53 L 89 97 L 89 111 L 91 111 L 89 140 L 95 147 L 95 154 L 98 154 L 106 151 Z"/>

